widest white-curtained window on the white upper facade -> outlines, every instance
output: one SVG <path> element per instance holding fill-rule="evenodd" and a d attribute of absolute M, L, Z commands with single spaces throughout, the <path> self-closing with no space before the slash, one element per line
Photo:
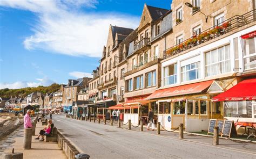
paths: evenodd
<path fill-rule="evenodd" d="M 230 45 L 205 53 L 205 76 L 219 75 L 231 71 Z"/>

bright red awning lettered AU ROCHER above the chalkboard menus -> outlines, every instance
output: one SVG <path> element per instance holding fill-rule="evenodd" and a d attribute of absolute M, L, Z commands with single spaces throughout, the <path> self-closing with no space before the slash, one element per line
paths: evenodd
<path fill-rule="evenodd" d="M 232 100 L 255 100 L 256 99 L 256 78 L 246 79 L 231 89 L 220 93 L 212 98 L 212 101 L 232 101 Z"/>

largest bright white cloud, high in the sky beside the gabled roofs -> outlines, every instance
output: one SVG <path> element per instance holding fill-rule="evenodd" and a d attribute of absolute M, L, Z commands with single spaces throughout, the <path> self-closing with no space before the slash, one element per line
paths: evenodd
<path fill-rule="evenodd" d="M 26 49 L 46 51 L 72 56 L 102 56 L 109 25 L 135 28 L 138 17 L 120 13 L 81 12 L 80 7 L 96 8 L 96 0 L 63 1 L 3 1 L 0 6 L 29 10 L 38 16 L 34 32 L 26 37 Z"/>

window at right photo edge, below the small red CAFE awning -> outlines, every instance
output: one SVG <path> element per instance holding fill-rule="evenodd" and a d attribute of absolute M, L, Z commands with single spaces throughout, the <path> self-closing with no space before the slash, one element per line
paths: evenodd
<path fill-rule="evenodd" d="M 245 40 L 244 68 L 256 68 L 255 38 Z"/>

